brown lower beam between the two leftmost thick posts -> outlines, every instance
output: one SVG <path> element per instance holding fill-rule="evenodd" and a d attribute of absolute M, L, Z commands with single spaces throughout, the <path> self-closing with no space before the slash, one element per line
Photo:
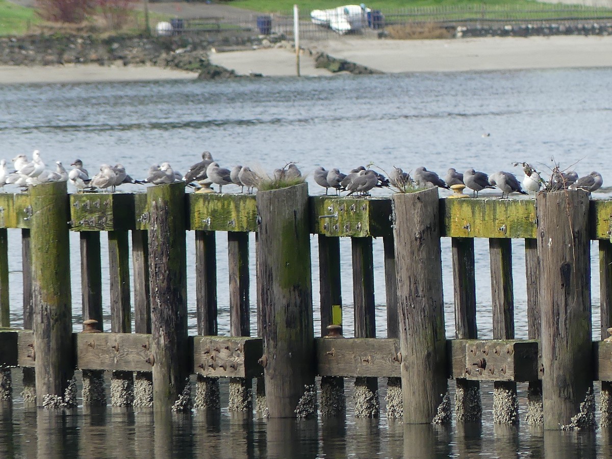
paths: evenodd
<path fill-rule="evenodd" d="M 151 335 L 76 333 L 75 346 L 81 370 L 152 371 Z"/>

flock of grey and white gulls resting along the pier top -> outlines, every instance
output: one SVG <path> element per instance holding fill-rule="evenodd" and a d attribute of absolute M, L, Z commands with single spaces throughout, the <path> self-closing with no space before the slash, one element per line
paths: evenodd
<path fill-rule="evenodd" d="M 273 177 L 265 174 L 258 174 L 248 166 L 234 166 L 231 169 L 222 168 L 212 159 L 211 152 L 205 151 L 202 160 L 189 168 L 185 175 L 179 173 L 170 166 L 170 163 L 152 165 L 149 168 L 147 177 L 144 180 L 133 179 L 125 172 L 124 166 L 116 164 L 114 166 L 103 164 L 99 172 L 90 177 L 88 171 L 83 167 L 80 159 L 71 164 L 72 170 L 65 170 L 60 161 L 56 161 L 55 170 L 47 170 L 45 163 L 40 157 L 40 152 L 35 150 L 32 159 L 29 160 L 24 154 L 13 158 L 13 170 L 9 171 L 6 160 L 0 161 L 0 187 L 6 184 L 13 184 L 17 187 L 28 187 L 45 182 L 69 181 L 74 185 L 78 192 L 110 190 L 114 192 L 116 187 L 122 184 L 168 184 L 176 181 L 184 181 L 187 185 L 196 188 L 211 189 L 211 185 L 218 185 L 219 192 L 222 193 L 223 186 L 237 185 L 241 187 L 241 192 L 247 189 L 248 193 L 253 192 L 264 180 L 269 181 L 299 181 L 303 180 L 302 173 L 294 163 L 288 163 L 282 169 L 276 169 Z M 335 190 L 336 194 L 348 192 L 347 195 L 368 196 L 373 188 L 393 187 L 400 192 L 414 190 L 417 188 L 440 187 L 450 189 L 455 185 L 462 190 L 464 187 L 472 190 L 473 196 L 484 189 L 499 188 L 504 195 L 509 197 L 510 193 L 520 193 L 531 195 L 539 192 L 542 187 L 547 190 L 575 189 L 585 190 L 589 193 L 594 192 L 602 186 L 602 175 L 592 172 L 587 176 L 578 177 L 575 171 L 561 171 L 556 166 L 545 181 L 541 174 L 528 163 L 515 163 L 515 166 L 523 166 L 524 177 L 520 182 L 515 174 L 499 171 L 493 174 L 468 169 L 463 174 L 457 172 L 455 168 L 447 171 L 444 179 L 433 171 L 428 171 L 424 167 L 418 167 L 412 173 L 405 173 L 401 168 L 394 167 L 387 178 L 383 174 L 359 166 L 351 170 L 348 174 L 343 174 L 337 168 L 326 170 L 322 166 L 315 168 L 313 179 L 316 184 L 325 188 L 325 193 L 329 188 Z"/>

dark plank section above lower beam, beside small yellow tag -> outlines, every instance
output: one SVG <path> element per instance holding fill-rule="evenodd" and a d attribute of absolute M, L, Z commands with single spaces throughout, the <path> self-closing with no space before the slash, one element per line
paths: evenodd
<path fill-rule="evenodd" d="M 340 280 L 340 237 L 319 234 L 319 296 L 321 298 L 321 335 L 332 324 L 332 306 L 342 305 Z"/>

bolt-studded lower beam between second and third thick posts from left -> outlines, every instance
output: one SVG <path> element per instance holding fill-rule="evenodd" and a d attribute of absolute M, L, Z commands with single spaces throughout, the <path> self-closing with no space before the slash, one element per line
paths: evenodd
<path fill-rule="evenodd" d="M 257 378 L 263 376 L 258 360 L 263 354 L 261 338 L 196 336 L 193 371 L 209 378 Z"/>

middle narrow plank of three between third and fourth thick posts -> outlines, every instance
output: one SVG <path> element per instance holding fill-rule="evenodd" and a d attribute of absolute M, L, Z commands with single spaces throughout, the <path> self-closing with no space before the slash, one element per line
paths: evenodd
<path fill-rule="evenodd" d="M 353 302 L 356 338 L 376 337 L 374 260 L 371 237 L 351 237 Z M 378 417 L 378 379 L 355 378 L 355 416 Z"/>

